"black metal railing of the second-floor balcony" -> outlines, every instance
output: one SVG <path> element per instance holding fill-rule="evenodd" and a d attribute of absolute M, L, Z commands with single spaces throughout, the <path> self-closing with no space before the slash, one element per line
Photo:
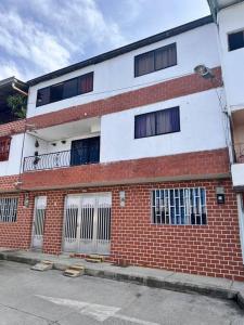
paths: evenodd
<path fill-rule="evenodd" d="M 70 166 L 70 151 L 25 157 L 24 171 L 53 169 Z"/>

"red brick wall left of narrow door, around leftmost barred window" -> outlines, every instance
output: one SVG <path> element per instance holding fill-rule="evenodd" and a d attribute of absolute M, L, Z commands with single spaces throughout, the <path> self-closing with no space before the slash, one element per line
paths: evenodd
<path fill-rule="evenodd" d="M 0 246 L 28 249 L 31 240 L 34 195 L 29 194 L 29 206 L 23 206 L 24 193 L 4 194 L 0 197 L 18 197 L 16 222 L 0 222 Z"/>

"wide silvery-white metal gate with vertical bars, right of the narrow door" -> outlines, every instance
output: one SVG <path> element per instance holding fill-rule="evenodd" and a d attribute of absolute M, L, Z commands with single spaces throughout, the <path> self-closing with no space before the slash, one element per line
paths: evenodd
<path fill-rule="evenodd" d="M 65 204 L 64 251 L 110 253 L 110 193 L 68 195 Z"/>

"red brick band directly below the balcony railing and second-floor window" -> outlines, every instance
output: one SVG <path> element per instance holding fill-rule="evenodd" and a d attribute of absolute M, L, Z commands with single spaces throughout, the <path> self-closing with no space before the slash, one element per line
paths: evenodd
<path fill-rule="evenodd" d="M 84 165 L 26 172 L 22 176 L 24 190 L 61 188 L 92 184 L 119 184 L 156 178 L 218 176 L 229 173 L 226 148 L 127 161 Z"/>

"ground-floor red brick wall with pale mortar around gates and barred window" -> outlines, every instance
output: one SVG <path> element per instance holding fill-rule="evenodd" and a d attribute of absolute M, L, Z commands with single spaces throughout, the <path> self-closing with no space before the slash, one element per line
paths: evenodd
<path fill-rule="evenodd" d="M 217 205 L 216 186 L 223 186 L 226 204 Z M 204 186 L 207 192 L 207 225 L 155 225 L 151 223 L 150 195 L 153 188 Z M 152 266 L 232 280 L 244 280 L 239 235 L 236 196 L 231 180 L 205 180 L 130 184 L 120 186 L 57 190 L 48 195 L 43 251 L 62 251 L 63 207 L 67 194 L 112 192 L 111 261 Z M 126 192 L 126 206 L 119 206 L 119 191 Z M 20 194 L 23 197 L 23 193 Z M 0 246 L 27 248 L 34 209 L 18 206 L 15 224 L 0 224 Z"/>

